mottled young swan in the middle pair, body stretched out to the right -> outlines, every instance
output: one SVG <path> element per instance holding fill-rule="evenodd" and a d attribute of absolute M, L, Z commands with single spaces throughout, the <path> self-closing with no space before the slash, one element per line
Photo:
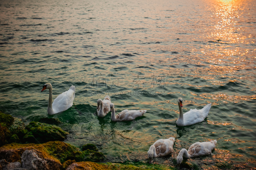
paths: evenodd
<path fill-rule="evenodd" d="M 131 121 L 134 120 L 136 117 L 143 116 L 147 110 L 123 110 L 122 112 L 116 115 L 114 103 L 110 104 L 111 112 L 111 120 L 113 122 L 120 122 L 120 121 Z"/>

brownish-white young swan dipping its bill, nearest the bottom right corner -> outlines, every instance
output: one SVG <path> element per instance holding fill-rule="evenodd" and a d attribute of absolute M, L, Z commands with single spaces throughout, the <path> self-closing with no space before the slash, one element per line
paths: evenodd
<path fill-rule="evenodd" d="M 188 151 L 184 148 L 181 149 L 179 155 L 177 156 L 178 166 L 180 166 L 183 160 L 183 156 L 185 158 L 191 158 L 203 155 L 211 155 L 216 143 L 217 140 L 213 140 L 210 142 L 196 142 L 189 147 Z"/>

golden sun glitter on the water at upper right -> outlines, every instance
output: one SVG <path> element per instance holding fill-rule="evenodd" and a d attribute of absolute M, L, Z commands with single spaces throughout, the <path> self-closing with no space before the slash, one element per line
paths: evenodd
<path fill-rule="evenodd" d="M 238 71 L 254 68 L 255 57 L 252 54 L 256 49 L 250 49 L 255 43 L 250 29 L 254 22 L 253 19 L 250 20 L 253 17 L 248 17 L 252 15 L 249 8 L 254 8 L 247 3 L 243 0 L 216 0 L 208 9 L 211 11 L 211 26 L 206 28 L 204 38 L 208 42 L 201 46 L 201 53 L 208 56 L 208 62 L 211 63 L 209 70 L 223 78 L 229 78 L 230 82 L 250 79 L 250 76 Z M 225 84 L 212 76 L 202 78 L 211 79 L 213 85 Z"/>

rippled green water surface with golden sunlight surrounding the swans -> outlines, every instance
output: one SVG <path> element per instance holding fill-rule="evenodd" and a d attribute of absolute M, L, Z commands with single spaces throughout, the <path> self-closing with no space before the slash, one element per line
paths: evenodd
<path fill-rule="evenodd" d="M 106 162 L 147 162 L 151 144 L 175 137 L 175 152 L 155 163 L 175 166 L 181 148 L 217 139 L 211 156 L 187 162 L 255 168 L 255 5 L 2 0 L 0 110 L 27 124 L 59 118 L 70 133 L 65 142 L 96 144 Z M 74 105 L 48 116 L 45 83 L 53 99 L 75 85 Z M 93 113 L 106 94 L 116 112 L 148 111 L 131 122 L 111 122 L 110 113 L 100 119 Z M 212 102 L 207 119 L 177 127 L 179 97 L 184 113 Z"/>

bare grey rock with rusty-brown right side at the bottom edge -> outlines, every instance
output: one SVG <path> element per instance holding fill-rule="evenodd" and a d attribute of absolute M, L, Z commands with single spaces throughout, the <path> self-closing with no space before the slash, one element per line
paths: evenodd
<path fill-rule="evenodd" d="M 51 159 L 49 155 L 36 149 L 24 151 L 21 159 L 22 167 L 28 170 L 58 170 L 61 167 L 59 160 Z"/>

